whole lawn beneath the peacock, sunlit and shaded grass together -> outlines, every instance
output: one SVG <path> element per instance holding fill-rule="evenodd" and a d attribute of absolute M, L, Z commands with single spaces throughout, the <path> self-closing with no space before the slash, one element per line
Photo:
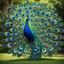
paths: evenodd
<path fill-rule="evenodd" d="M 41 60 L 31 61 L 26 57 L 13 57 L 11 54 L 0 53 L 0 64 L 64 64 L 64 55 L 42 57 Z"/>

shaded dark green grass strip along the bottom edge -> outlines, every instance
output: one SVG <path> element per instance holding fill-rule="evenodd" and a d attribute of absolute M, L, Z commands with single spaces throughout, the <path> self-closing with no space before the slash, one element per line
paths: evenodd
<path fill-rule="evenodd" d="M 64 64 L 64 60 L 16 60 L 16 61 L 0 61 L 0 64 Z"/>

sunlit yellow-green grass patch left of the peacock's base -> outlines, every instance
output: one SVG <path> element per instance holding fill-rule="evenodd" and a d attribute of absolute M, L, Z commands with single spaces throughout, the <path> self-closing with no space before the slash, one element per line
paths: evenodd
<path fill-rule="evenodd" d="M 17 56 L 12 56 L 12 54 L 6 54 L 6 53 L 0 54 L 0 60 L 28 59 L 28 57 L 29 57 L 29 55 L 17 57 Z"/>

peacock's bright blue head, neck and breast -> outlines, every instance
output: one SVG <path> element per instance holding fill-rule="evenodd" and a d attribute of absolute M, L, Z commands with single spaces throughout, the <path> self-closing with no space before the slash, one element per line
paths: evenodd
<path fill-rule="evenodd" d="M 32 33 L 29 24 L 28 24 L 29 19 L 26 19 L 26 24 L 24 27 L 24 35 L 26 36 L 26 38 L 28 39 L 28 41 L 34 41 L 34 34 Z"/>

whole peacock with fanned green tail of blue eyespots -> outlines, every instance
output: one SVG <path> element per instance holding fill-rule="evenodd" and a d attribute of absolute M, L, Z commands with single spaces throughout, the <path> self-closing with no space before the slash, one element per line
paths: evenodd
<path fill-rule="evenodd" d="M 64 24 L 55 8 L 46 3 L 13 5 L 8 8 L 0 24 L 0 43 L 13 56 L 41 59 L 61 50 Z"/>

